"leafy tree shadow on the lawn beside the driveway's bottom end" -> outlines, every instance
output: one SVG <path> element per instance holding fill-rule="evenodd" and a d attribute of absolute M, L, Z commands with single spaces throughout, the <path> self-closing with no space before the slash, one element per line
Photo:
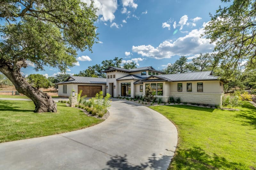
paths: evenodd
<path fill-rule="evenodd" d="M 169 169 L 240 169 L 240 163 L 230 162 L 216 154 L 208 155 L 200 147 L 176 150 Z"/>

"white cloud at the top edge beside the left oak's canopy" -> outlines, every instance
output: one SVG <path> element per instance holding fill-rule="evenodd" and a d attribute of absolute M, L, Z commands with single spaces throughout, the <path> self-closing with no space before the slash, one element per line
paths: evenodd
<path fill-rule="evenodd" d="M 82 0 L 82 2 L 87 3 L 87 5 L 91 4 L 90 0 Z M 100 20 L 112 22 L 115 19 L 114 13 L 117 9 L 117 0 L 94 0 L 94 7 L 99 9 L 97 15 L 102 15 Z"/>

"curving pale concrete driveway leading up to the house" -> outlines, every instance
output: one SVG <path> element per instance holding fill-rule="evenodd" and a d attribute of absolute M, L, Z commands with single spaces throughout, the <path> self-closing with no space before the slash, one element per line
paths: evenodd
<path fill-rule="evenodd" d="M 0 169 L 166 169 L 177 130 L 163 115 L 113 101 L 108 119 L 82 130 L 0 144 Z"/>

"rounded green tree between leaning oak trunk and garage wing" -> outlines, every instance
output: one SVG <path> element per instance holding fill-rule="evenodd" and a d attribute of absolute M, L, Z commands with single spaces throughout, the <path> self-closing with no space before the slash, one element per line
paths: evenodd
<path fill-rule="evenodd" d="M 27 80 L 28 80 L 28 83 L 33 87 L 35 87 L 36 89 L 48 88 L 51 86 L 51 83 L 42 74 L 30 74 Z"/>

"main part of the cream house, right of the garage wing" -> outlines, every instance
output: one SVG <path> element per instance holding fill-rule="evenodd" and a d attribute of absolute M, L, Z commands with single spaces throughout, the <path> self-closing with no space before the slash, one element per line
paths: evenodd
<path fill-rule="evenodd" d="M 221 104 L 223 81 L 213 76 L 212 71 L 180 74 L 164 74 L 153 67 L 123 69 L 108 67 L 106 92 L 113 97 L 145 95 L 145 88 L 150 85 L 157 98 L 168 102 L 169 97 L 180 97 L 182 102 L 218 105 Z"/>

